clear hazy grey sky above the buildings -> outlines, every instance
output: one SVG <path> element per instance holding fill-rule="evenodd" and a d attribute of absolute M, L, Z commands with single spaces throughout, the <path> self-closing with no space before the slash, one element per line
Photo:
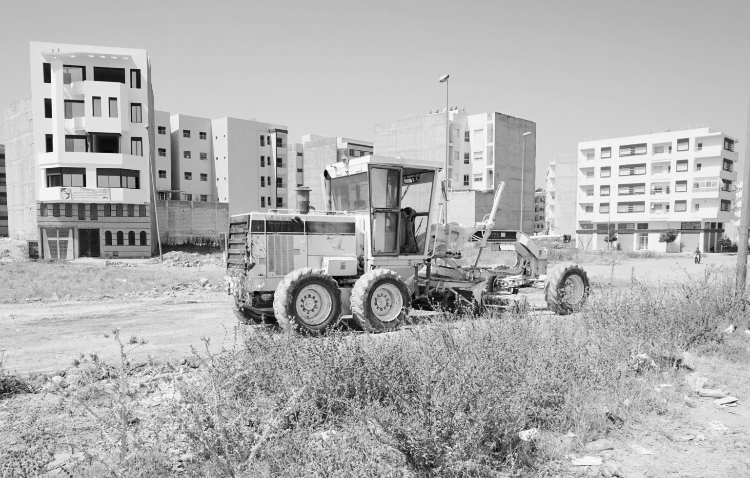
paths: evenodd
<path fill-rule="evenodd" d="M 537 124 L 537 185 L 577 142 L 704 124 L 740 139 L 750 1 L 2 1 L 0 109 L 28 42 L 148 49 L 156 108 L 371 141 L 450 103 Z M 0 128 L 0 142 L 2 142 Z"/>

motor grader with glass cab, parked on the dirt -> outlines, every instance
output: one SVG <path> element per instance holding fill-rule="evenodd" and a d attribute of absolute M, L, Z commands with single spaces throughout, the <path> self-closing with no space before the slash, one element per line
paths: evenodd
<path fill-rule="evenodd" d="M 480 223 L 446 220 L 450 188 L 439 181 L 441 166 L 377 155 L 344 159 L 323 172 L 324 208 L 311 208 L 302 187 L 296 209 L 231 217 L 225 284 L 240 321 L 275 318 L 287 330 L 325 333 L 351 318 L 384 332 L 401 327 L 413 306 L 504 307 L 517 303 L 519 287 L 541 281 L 549 309 L 579 308 L 589 290 L 583 269 L 559 264 L 547 274 L 541 246 L 523 232 L 494 229 L 502 183 Z M 478 254 L 463 265 L 468 243 Z M 479 267 L 487 248 L 515 251 L 516 264 Z"/>

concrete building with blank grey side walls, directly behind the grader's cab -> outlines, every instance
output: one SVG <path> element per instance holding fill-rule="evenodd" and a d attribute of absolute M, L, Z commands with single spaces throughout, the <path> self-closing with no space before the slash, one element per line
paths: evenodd
<path fill-rule="evenodd" d="M 525 148 L 523 133 L 526 136 Z M 449 111 L 449 171 L 452 190 L 475 196 L 472 203 L 480 211 L 465 207 L 466 200 L 449 203 L 449 221 L 468 225 L 474 217 L 489 214 L 492 202 L 480 197 L 505 181 L 502 202 L 495 223 L 498 229 L 518 229 L 523 204 L 523 232 L 534 230 L 534 177 L 536 124 L 499 112 L 466 115 L 461 109 Z M 375 126 L 375 154 L 446 160 L 446 112 L 405 118 Z M 523 157 L 525 154 L 525 157 Z M 522 184 L 523 178 L 523 184 Z M 456 197 L 456 196 L 454 196 Z M 523 197 L 523 201 L 522 198 Z"/>

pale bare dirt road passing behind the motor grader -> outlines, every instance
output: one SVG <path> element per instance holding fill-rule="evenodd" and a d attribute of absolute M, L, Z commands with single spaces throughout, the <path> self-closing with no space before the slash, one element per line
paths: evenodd
<path fill-rule="evenodd" d="M 703 273 L 709 264 L 733 265 L 736 256 L 706 255 L 694 264 L 691 255 L 622 261 L 611 265 L 584 264 L 592 281 L 627 286 L 631 273 L 639 280 L 658 282 L 682 279 L 688 273 Z M 217 273 L 220 270 L 217 269 Z M 529 303 L 543 306 L 541 289 L 524 291 Z M 148 345 L 133 352 L 134 360 L 177 358 L 202 348 L 201 338 L 211 339 L 211 348 L 230 347 L 235 341 L 236 318 L 223 290 L 172 291 L 159 297 L 123 297 L 101 300 L 40 300 L 0 305 L 0 350 L 5 366 L 17 372 L 53 372 L 71 366 L 79 354 L 98 354 L 105 361 L 118 360 L 113 339 L 115 327 L 124 339 L 137 336 Z"/>

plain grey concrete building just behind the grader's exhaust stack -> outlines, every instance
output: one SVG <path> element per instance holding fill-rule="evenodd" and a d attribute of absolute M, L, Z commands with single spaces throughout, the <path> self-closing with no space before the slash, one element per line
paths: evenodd
<path fill-rule="evenodd" d="M 298 168 L 302 169 L 301 182 L 312 189 L 310 204 L 320 210 L 331 209 L 331 205 L 326 202 L 326 190 L 323 187 L 323 170 L 326 169 L 326 166 L 344 157 L 374 154 L 371 142 L 314 134 L 302 136 L 302 151 L 304 166 L 298 165 Z M 299 151 L 297 153 L 299 154 Z M 291 190 L 294 190 L 294 188 L 291 188 Z M 296 207 L 296 205 L 293 205 L 293 207 Z"/>

